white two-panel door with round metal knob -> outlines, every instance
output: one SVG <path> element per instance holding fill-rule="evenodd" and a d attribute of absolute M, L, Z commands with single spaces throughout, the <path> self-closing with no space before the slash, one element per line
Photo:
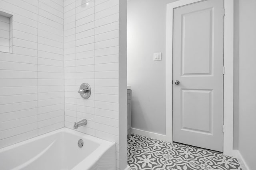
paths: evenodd
<path fill-rule="evenodd" d="M 174 9 L 173 140 L 223 150 L 224 2 Z"/>

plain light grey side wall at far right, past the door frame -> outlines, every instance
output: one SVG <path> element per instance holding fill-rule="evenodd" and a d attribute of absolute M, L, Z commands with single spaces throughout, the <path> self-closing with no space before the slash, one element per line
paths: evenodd
<path fill-rule="evenodd" d="M 238 0 L 238 8 L 235 11 L 235 21 L 238 27 L 235 29 L 235 39 L 238 41 L 239 68 L 239 89 L 238 92 L 238 150 L 248 164 L 250 170 L 256 167 L 255 162 L 255 141 L 256 141 L 256 1 L 255 0 Z M 237 44 L 236 44 L 237 45 Z M 236 46 L 235 46 L 236 47 Z M 235 68 L 237 69 L 237 68 Z M 235 129 L 235 130 L 236 130 Z"/>

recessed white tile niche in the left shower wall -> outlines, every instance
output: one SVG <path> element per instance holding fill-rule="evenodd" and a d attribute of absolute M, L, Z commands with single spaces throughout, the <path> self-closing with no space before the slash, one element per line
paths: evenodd
<path fill-rule="evenodd" d="M 12 53 L 12 15 L 0 11 L 0 52 Z"/>

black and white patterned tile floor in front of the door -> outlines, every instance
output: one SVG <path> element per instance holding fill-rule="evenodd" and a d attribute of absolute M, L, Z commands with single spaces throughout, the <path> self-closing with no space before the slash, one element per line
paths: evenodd
<path fill-rule="evenodd" d="M 131 170 L 242 170 L 236 158 L 180 143 L 140 135 L 128 138 Z"/>

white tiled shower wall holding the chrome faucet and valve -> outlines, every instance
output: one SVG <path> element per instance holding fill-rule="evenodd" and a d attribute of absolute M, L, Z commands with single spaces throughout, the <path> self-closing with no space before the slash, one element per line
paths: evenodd
<path fill-rule="evenodd" d="M 65 126 L 114 141 L 119 167 L 119 1 L 64 0 Z M 78 94 L 82 83 L 92 94 Z"/>

